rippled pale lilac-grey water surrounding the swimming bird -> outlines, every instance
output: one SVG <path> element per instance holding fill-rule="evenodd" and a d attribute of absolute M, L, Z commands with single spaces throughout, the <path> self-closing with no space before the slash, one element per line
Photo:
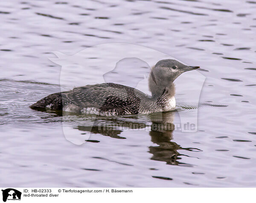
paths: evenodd
<path fill-rule="evenodd" d="M 1 1 L 0 186 L 256 187 L 255 9 L 251 0 Z M 60 86 L 63 67 L 48 59 L 56 57 L 52 51 L 73 55 L 105 43 L 139 45 L 201 66 L 198 109 L 190 99 L 195 73 L 178 78 L 177 109 L 160 119 L 29 109 L 77 85 L 71 74 Z M 103 55 L 87 60 L 100 64 Z M 84 85 L 95 83 L 90 75 L 99 69 L 105 65 L 84 72 Z M 127 85 L 137 76 L 129 70 L 105 80 Z M 151 128 L 179 123 L 195 109 L 196 132 Z M 113 123 L 126 128 L 99 127 Z M 66 132 L 64 124 L 71 126 Z M 67 134 L 85 142 L 74 144 Z"/>

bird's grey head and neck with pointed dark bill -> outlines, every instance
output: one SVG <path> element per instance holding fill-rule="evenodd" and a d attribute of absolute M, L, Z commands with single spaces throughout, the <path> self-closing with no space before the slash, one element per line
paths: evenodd
<path fill-rule="evenodd" d="M 173 88 L 174 92 L 173 81 L 183 72 L 198 68 L 199 66 L 186 66 L 173 59 L 158 61 L 149 76 L 149 89 L 152 95 L 161 94 L 166 88 Z"/>

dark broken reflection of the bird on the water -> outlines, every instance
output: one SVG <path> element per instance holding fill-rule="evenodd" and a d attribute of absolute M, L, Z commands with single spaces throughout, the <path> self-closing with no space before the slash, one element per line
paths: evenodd
<path fill-rule="evenodd" d="M 179 165 L 179 166 L 192 166 L 188 163 L 182 163 L 178 160 L 181 160 L 181 156 L 189 157 L 185 154 L 180 154 L 179 150 L 186 150 L 192 152 L 201 152 L 200 149 L 196 148 L 183 148 L 175 142 L 172 142 L 173 139 L 173 117 L 174 112 L 161 112 L 156 114 L 150 114 L 151 125 L 147 125 L 146 122 L 135 122 L 138 116 L 131 115 L 125 117 L 125 120 L 119 120 L 118 117 L 96 119 L 93 126 L 78 126 L 77 129 L 85 132 L 90 132 L 92 134 L 102 134 L 104 136 L 113 137 L 117 139 L 126 139 L 121 137 L 120 134 L 123 132 L 122 129 L 115 127 L 106 127 L 101 125 L 101 123 L 107 123 L 109 126 L 115 126 L 114 124 L 118 123 L 117 126 L 126 126 L 129 129 L 143 129 L 149 127 L 151 136 L 151 142 L 157 144 L 158 146 L 149 146 L 149 153 L 153 154 L 151 160 L 163 161 L 166 164 L 170 165 Z M 95 140 L 87 140 L 96 142 Z M 99 142 L 99 141 L 98 141 Z"/>

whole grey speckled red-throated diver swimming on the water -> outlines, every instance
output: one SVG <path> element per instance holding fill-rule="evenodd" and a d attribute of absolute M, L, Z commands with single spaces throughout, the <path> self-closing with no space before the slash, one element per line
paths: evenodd
<path fill-rule="evenodd" d="M 176 106 L 173 81 L 183 72 L 198 69 L 177 60 L 160 60 L 151 70 L 149 89 L 152 96 L 132 87 L 102 83 L 50 94 L 30 106 L 101 116 L 166 112 Z"/>

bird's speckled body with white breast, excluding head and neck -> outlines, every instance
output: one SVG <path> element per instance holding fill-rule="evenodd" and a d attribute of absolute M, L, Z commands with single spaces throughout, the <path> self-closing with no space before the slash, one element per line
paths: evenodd
<path fill-rule="evenodd" d="M 154 98 L 132 87 L 102 83 L 50 94 L 30 107 L 101 116 L 148 114 L 174 109 L 175 97 L 166 92 Z"/>

